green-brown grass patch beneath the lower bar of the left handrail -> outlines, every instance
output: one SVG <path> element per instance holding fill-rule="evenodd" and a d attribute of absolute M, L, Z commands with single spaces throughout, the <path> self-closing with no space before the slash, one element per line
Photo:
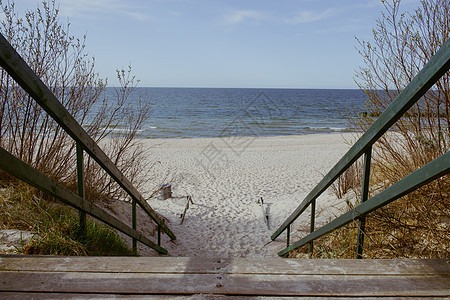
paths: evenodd
<path fill-rule="evenodd" d="M 30 186 L 0 179 L 0 229 L 31 231 L 34 237 L 16 253 L 40 255 L 135 255 L 117 233 L 88 218 L 81 234 L 78 213 Z"/>

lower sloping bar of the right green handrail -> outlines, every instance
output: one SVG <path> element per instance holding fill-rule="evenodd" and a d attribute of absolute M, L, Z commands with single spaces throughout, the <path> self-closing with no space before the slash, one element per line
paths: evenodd
<path fill-rule="evenodd" d="M 373 196 L 364 203 L 361 203 L 357 207 L 349 210 L 343 215 L 335 218 L 330 223 L 322 226 L 316 231 L 310 233 L 303 239 L 289 245 L 285 249 L 278 252 L 278 255 L 283 256 L 289 251 L 302 247 L 331 231 L 349 224 L 353 220 L 358 219 L 361 216 L 365 216 L 368 213 L 391 203 L 392 201 L 424 186 L 425 184 L 445 175 L 450 172 L 450 151 L 436 158 L 432 162 L 426 164 L 419 170 L 404 177 L 402 180 L 396 182 L 394 185 Z"/>

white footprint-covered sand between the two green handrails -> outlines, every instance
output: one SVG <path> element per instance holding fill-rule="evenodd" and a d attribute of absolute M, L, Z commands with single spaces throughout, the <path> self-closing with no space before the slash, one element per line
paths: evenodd
<path fill-rule="evenodd" d="M 164 235 L 162 246 L 171 256 L 276 256 L 286 245 L 286 234 L 274 242 L 271 234 L 349 149 L 345 141 L 352 137 L 346 133 L 144 140 L 146 147 L 152 147 L 148 159 L 158 162 L 154 171 L 161 174 L 161 181 L 172 184 L 174 198 L 149 201 L 168 219 L 177 236 L 172 242 Z M 192 196 L 194 204 L 180 225 L 187 195 Z M 260 197 L 269 215 L 270 230 L 257 203 Z M 317 207 L 320 225 L 345 204 L 326 191 Z M 138 223 L 145 227 L 142 218 L 138 217 Z M 154 228 L 147 226 L 154 233 Z M 291 241 L 303 236 L 308 228 L 306 211 L 294 223 Z M 155 255 L 145 246 L 140 247 L 140 253 Z"/>

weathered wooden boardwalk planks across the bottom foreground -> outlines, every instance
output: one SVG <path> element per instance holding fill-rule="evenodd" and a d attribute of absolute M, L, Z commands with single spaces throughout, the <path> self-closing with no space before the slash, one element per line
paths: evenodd
<path fill-rule="evenodd" d="M 449 260 L 0 256 L 0 299 L 450 297 Z"/>

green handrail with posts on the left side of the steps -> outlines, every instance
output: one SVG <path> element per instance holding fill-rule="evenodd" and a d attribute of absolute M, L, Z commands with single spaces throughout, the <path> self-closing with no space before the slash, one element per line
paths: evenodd
<path fill-rule="evenodd" d="M 64 192 L 61 193 L 51 193 L 52 189 L 48 190 L 46 187 L 58 186 L 47 176 L 39 173 L 37 170 L 34 171 L 27 168 L 26 164 L 22 161 L 14 160 L 14 156 L 8 153 L 6 150 L 1 149 L 0 157 L 1 164 L 0 168 L 6 172 L 28 182 L 29 184 L 41 189 L 51 195 L 55 196 L 59 200 L 68 203 L 69 205 L 80 210 L 80 220 L 85 219 L 84 213 L 88 213 L 99 220 L 110 224 L 111 226 L 117 228 L 123 233 L 131 236 L 133 238 L 133 248 L 136 250 L 136 240 L 152 247 L 160 253 L 167 253 L 167 250 L 161 248 L 159 245 L 154 244 L 148 239 L 142 237 L 136 231 L 136 203 L 150 216 L 150 218 L 158 225 L 158 232 L 163 230 L 172 240 L 176 237 L 173 232 L 167 227 L 164 221 L 158 216 L 158 214 L 150 207 L 150 205 L 145 201 L 144 197 L 138 192 L 138 190 L 132 185 L 132 183 L 120 172 L 117 166 L 108 158 L 108 156 L 103 152 L 103 150 L 97 145 L 97 143 L 87 134 L 87 132 L 81 127 L 80 124 L 73 118 L 73 116 L 65 109 L 65 107 L 58 101 L 55 95 L 47 88 L 47 86 L 41 81 L 41 79 L 33 72 L 33 70 L 28 66 L 28 64 L 20 57 L 16 50 L 11 46 L 11 44 L 0 34 L 0 66 L 5 69 L 8 74 L 76 141 L 77 144 L 77 173 L 78 173 L 78 195 L 70 195 L 66 193 L 69 192 L 67 189 L 63 188 Z M 121 223 L 118 225 L 116 221 L 112 222 L 109 219 L 105 220 L 102 216 L 103 213 L 94 213 L 92 210 L 87 209 L 87 207 L 95 207 L 90 202 L 84 200 L 84 189 L 83 189 L 83 152 L 88 153 L 113 179 L 117 182 L 121 188 L 126 191 L 126 193 L 132 199 L 132 228 L 124 229 L 128 227 L 127 225 Z M 15 168 L 10 168 L 5 162 L 14 162 Z M 16 169 L 17 168 L 17 169 Z M 36 178 L 40 178 L 45 184 L 38 184 L 34 182 L 33 178 L 27 176 L 28 174 L 19 174 L 19 169 L 28 169 L 29 172 L 35 174 Z M 38 172 L 38 173 L 35 173 Z M 44 179 L 44 177 L 47 179 Z M 61 189 L 62 187 L 58 187 Z M 63 196 L 64 194 L 64 196 Z M 70 198 L 70 201 L 69 201 Z M 80 199 L 83 200 L 80 202 Z M 78 201 L 78 202 L 77 202 Z M 90 203 L 90 204 L 88 204 Z M 94 211 L 101 210 L 95 207 Z M 105 212 L 106 213 L 106 212 Z M 106 213 L 107 214 L 107 213 Z M 113 218 L 109 215 L 110 218 Z M 111 219 L 112 220 L 112 219 Z M 81 221 L 83 223 L 83 221 Z M 157 247 L 156 247 L 157 246 Z"/>

